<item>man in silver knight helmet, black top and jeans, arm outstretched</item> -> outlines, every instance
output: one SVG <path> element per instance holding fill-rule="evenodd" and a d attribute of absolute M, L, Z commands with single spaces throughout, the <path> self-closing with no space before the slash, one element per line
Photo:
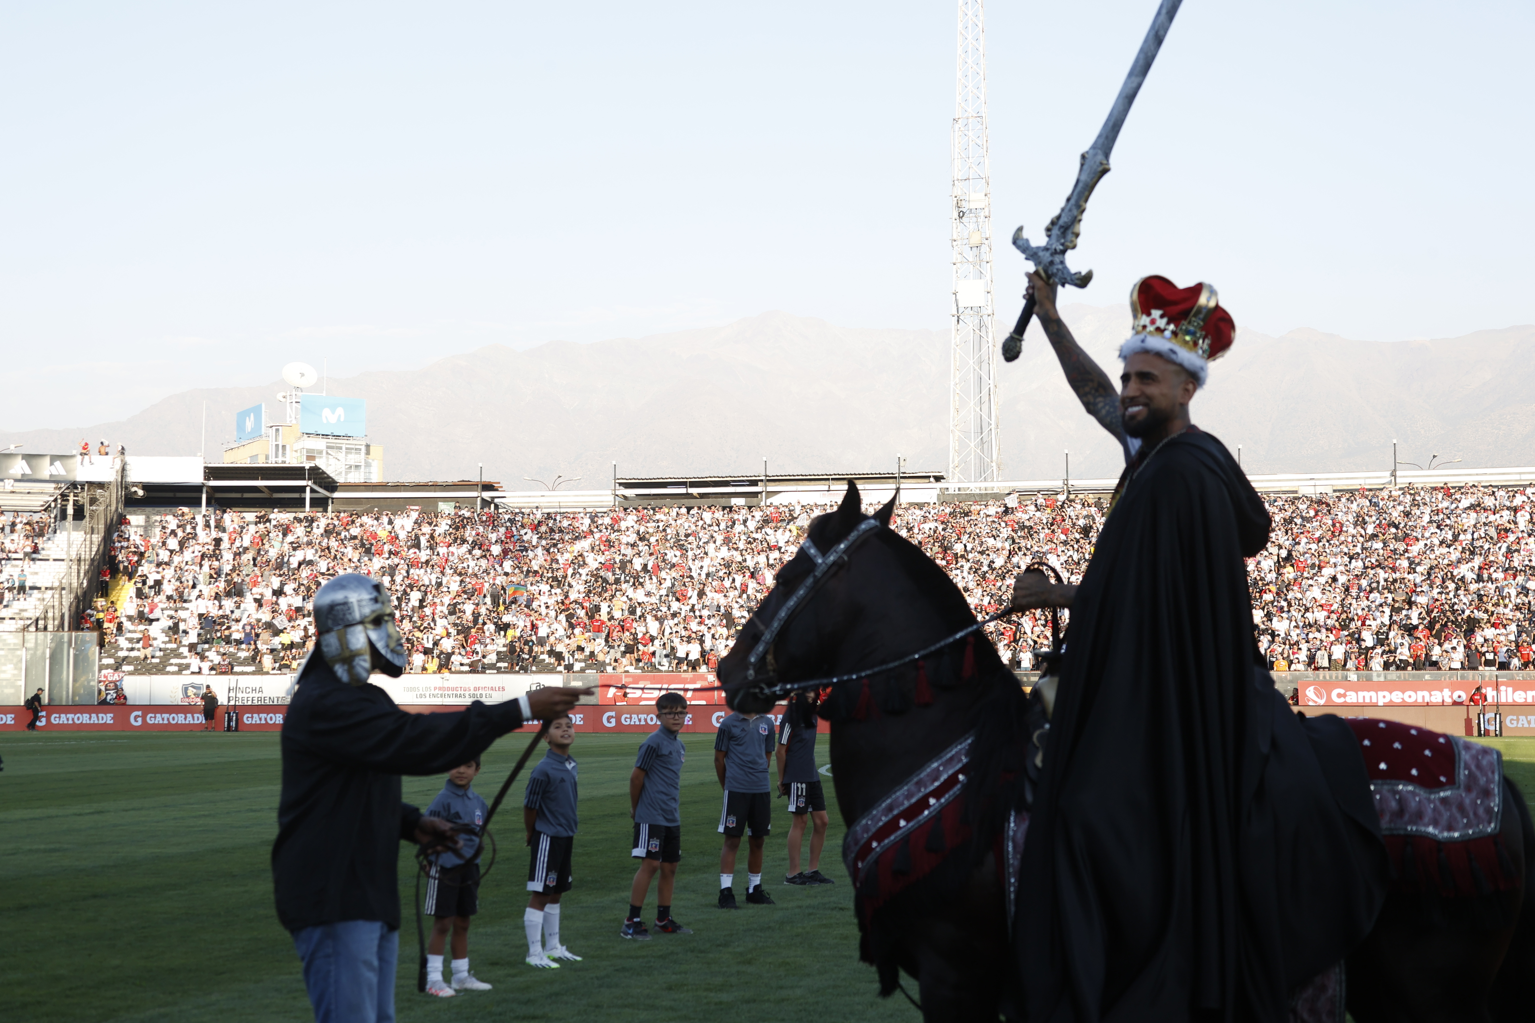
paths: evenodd
<path fill-rule="evenodd" d="M 318 643 L 282 722 L 272 877 L 278 919 L 304 963 L 316 1023 L 394 1020 L 402 840 L 456 845 L 450 825 L 401 801 L 401 775 L 439 775 L 589 689 L 539 689 L 454 713 L 407 713 L 373 672 L 399 678 L 405 647 L 388 590 L 338 575 L 315 594 Z"/>

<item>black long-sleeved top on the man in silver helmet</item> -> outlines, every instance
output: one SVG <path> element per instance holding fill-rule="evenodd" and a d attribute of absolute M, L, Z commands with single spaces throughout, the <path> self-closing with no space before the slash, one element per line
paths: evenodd
<path fill-rule="evenodd" d="M 282 926 L 379 920 L 399 929 L 399 844 L 421 821 L 421 810 L 401 802 L 399 776 L 447 773 L 520 724 L 516 699 L 410 713 L 378 686 L 350 686 L 309 656 L 282 719 L 272 844 Z"/>

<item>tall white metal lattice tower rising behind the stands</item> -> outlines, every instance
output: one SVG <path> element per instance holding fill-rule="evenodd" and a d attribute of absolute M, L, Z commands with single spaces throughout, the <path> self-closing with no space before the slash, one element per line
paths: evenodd
<path fill-rule="evenodd" d="M 998 479 L 996 345 L 992 311 L 992 172 L 985 133 L 985 3 L 959 0 L 953 124 L 953 351 L 949 368 L 949 479 Z"/>

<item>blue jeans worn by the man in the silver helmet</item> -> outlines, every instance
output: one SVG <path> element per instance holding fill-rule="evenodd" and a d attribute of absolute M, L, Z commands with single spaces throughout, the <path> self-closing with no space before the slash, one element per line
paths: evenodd
<path fill-rule="evenodd" d="M 293 931 L 315 1023 L 394 1023 L 399 931 L 342 920 Z"/>

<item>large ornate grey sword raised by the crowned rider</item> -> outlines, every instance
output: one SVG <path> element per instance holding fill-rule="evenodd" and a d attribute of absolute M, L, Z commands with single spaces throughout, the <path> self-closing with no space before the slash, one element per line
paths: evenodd
<path fill-rule="evenodd" d="M 1114 100 L 1113 109 L 1108 110 L 1108 120 L 1104 121 L 1104 127 L 1098 132 L 1093 144 L 1082 153 L 1082 166 L 1076 172 L 1076 184 L 1071 186 L 1071 195 L 1067 196 L 1065 206 L 1061 207 L 1056 218 L 1045 227 L 1045 235 L 1048 235 L 1045 244 L 1030 245 L 1028 239 L 1024 238 L 1022 225 L 1013 232 L 1013 247 L 1028 256 L 1035 264 L 1035 270 L 1044 275 L 1047 281 L 1085 288 L 1093 279 L 1091 270 L 1073 273 L 1065 265 L 1065 253 L 1068 248 L 1076 248 L 1076 239 L 1082 233 L 1082 209 L 1087 206 L 1087 199 L 1093 195 L 1093 189 L 1099 179 L 1108 173 L 1108 153 L 1114 149 L 1114 140 L 1119 138 L 1119 129 L 1125 124 L 1130 104 L 1136 101 L 1141 83 L 1147 80 L 1151 61 L 1156 60 L 1157 51 L 1162 49 L 1162 40 L 1167 38 L 1167 31 L 1173 26 L 1173 15 L 1177 14 L 1182 2 L 1162 0 L 1156 17 L 1151 18 L 1151 28 L 1147 31 L 1145 41 L 1141 43 L 1136 61 L 1130 64 L 1125 84 L 1119 87 L 1119 98 Z M 1028 321 L 1033 319 L 1033 314 L 1035 299 L 1030 296 L 1024 302 L 1024 311 L 1018 316 L 1018 325 L 1013 327 L 1013 333 L 1002 342 L 1002 357 L 1008 362 L 1018 359 L 1024 351 L 1024 330 L 1028 328 Z"/>

